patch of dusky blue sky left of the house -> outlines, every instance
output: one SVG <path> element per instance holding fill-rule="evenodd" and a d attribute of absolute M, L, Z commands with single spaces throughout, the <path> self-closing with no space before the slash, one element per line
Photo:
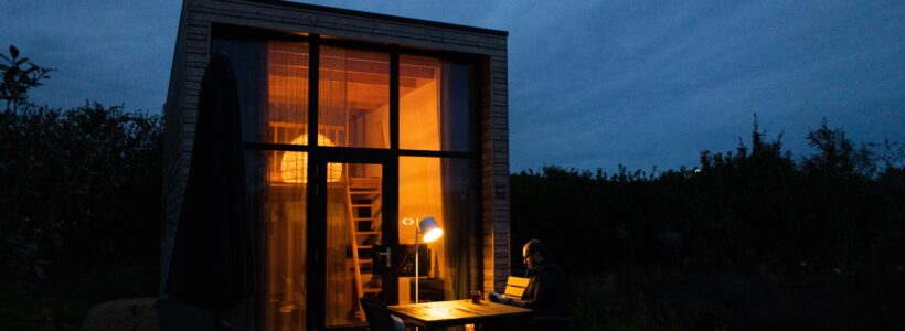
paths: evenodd
<path fill-rule="evenodd" d="M 15 29 L 2 29 L 0 41 L 57 70 L 35 100 L 160 111 L 180 1 L 12 1 L 9 8 L 0 20 Z"/>

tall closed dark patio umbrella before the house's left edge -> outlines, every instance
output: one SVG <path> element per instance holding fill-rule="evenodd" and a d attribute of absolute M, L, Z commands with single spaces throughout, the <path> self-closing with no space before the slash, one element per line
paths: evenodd
<path fill-rule="evenodd" d="M 216 313 L 254 292 L 239 106 L 225 54 L 204 73 L 194 145 L 166 293 Z"/>

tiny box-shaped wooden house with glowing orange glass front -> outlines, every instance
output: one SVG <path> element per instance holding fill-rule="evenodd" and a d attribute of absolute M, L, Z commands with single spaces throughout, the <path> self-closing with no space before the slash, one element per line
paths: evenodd
<path fill-rule="evenodd" d="M 213 54 L 235 74 L 257 257 L 243 324 L 354 328 L 361 297 L 404 303 L 504 288 L 507 32 L 244 0 L 182 7 L 164 110 L 161 288 L 179 254 Z M 430 243 L 418 238 L 426 217 L 444 231 Z"/>

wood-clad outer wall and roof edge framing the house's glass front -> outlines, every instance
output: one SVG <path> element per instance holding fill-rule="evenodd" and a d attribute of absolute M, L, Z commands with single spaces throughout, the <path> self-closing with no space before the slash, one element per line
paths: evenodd
<path fill-rule="evenodd" d="M 311 6 L 241 0 L 187 0 L 177 36 L 164 116 L 164 220 L 161 289 L 191 161 L 198 97 L 210 57 L 211 25 L 225 23 L 306 32 L 370 43 L 486 55 L 481 90 L 481 167 L 485 290 L 501 290 L 509 276 L 509 125 L 507 36 L 481 29 L 430 23 Z M 161 291 L 162 293 L 162 291 Z"/>

